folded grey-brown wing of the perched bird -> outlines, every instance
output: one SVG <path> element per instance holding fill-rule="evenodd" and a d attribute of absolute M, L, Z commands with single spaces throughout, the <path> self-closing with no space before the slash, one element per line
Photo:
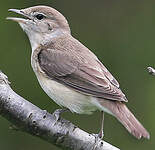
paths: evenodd
<path fill-rule="evenodd" d="M 127 101 L 118 82 L 89 51 L 89 55 L 42 49 L 38 54 L 41 69 L 53 80 L 78 92 L 109 100 Z M 81 57 L 82 56 L 82 57 Z"/>

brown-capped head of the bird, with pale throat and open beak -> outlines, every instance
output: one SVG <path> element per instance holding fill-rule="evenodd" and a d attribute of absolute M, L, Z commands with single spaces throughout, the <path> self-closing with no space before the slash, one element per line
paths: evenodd
<path fill-rule="evenodd" d="M 22 15 L 22 18 L 8 17 L 16 21 L 28 35 L 34 48 L 40 42 L 46 42 L 55 36 L 67 33 L 70 28 L 65 17 L 54 8 L 48 6 L 34 6 L 25 9 L 9 9 Z"/>

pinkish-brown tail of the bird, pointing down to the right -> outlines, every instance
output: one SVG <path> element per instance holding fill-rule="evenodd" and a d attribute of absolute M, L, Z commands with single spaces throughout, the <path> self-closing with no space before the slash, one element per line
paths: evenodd
<path fill-rule="evenodd" d="M 150 138 L 149 133 L 143 125 L 135 118 L 127 106 L 122 102 L 102 100 L 100 101 L 104 108 L 107 108 L 123 126 L 136 138 Z"/>

